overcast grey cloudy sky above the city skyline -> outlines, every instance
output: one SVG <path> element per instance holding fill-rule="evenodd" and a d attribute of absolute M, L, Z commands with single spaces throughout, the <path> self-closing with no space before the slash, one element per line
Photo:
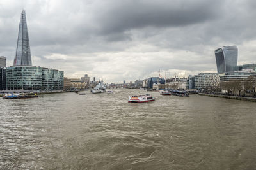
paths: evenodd
<path fill-rule="evenodd" d="M 216 73 L 214 50 L 256 63 L 253 0 L 1 0 L 0 55 L 13 64 L 26 10 L 34 66 L 104 82 Z"/>

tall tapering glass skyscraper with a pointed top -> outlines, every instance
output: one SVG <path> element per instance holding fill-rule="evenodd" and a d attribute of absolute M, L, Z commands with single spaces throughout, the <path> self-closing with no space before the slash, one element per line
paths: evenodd
<path fill-rule="evenodd" d="M 22 10 L 20 16 L 19 35 L 17 41 L 17 48 L 15 53 L 14 66 L 31 66 L 31 54 L 28 39 L 28 27 L 26 21 L 25 10 Z"/>

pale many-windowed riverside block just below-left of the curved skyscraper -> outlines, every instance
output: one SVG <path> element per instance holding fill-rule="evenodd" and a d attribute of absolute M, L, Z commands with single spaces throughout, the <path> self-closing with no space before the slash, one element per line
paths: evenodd
<path fill-rule="evenodd" d="M 220 76 L 216 73 L 200 73 L 195 76 L 195 89 L 207 89 L 219 85 Z"/>

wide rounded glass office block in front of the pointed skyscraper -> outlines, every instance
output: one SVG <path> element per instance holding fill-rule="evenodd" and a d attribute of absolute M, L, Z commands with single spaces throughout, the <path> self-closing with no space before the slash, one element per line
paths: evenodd
<path fill-rule="evenodd" d="M 6 68 L 7 90 L 63 90 L 63 71 L 36 66 Z"/>

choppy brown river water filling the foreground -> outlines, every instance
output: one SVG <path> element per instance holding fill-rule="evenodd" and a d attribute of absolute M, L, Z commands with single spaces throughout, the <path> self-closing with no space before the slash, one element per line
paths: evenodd
<path fill-rule="evenodd" d="M 256 168 L 256 103 L 143 93 L 0 99 L 0 169 Z"/>

